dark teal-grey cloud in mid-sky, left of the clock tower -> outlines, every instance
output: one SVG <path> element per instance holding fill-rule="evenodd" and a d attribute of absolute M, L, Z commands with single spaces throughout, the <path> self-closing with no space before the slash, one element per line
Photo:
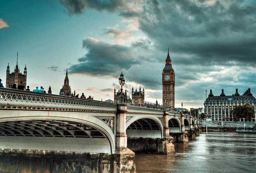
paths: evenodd
<path fill-rule="evenodd" d="M 112 76 L 116 71 L 129 69 L 133 64 L 140 64 L 126 46 L 109 44 L 89 37 L 83 41 L 83 48 L 87 53 L 78 59 L 79 64 L 71 66 L 71 73 Z"/>

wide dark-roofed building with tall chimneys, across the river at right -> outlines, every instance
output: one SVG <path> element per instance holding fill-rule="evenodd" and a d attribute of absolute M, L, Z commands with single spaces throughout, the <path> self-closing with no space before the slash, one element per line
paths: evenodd
<path fill-rule="evenodd" d="M 212 120 L 232 121 L 233 117 L 230 114 L 230 110 L 235 105 L 244 105 L 245 103 L 249 103 L 254 108 L 254 111 L 256 111 L 256 99 L 253 97 L 250 88 L 243 95 L 240 95 L 238 89 L 235 89 L 235 94 L 228 96 L 224 94 L 223 89 L 221 89 L 220 96 L 214 96 L 212 90 L 210 90 L 210 94 L 204 102 L 205 116 Z M 241 121 L 243 120 L 241 119 Z M 255 118 L 253 121 L 255 121 Z"/>

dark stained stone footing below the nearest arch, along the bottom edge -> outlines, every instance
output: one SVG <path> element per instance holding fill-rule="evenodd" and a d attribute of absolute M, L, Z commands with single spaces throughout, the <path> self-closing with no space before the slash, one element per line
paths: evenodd
<path fill-rule="evenodd" d="M 126 165 L 132 165 L 131 171 Z M 5 149 L 0 152 L 0 172 L 135 173 L 135 154 L 56 153 Z"/>

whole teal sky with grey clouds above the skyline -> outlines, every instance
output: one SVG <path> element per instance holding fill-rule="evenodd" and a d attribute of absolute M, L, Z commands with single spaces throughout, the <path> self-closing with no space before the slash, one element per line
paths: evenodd
<path fill-rule="evenodd" d="M 0 5 L 0 78 L 26 64 L 27 84 L 64 84 L 95 100 L 144 87 L 162 103 L 162 70 L 170 48 L 175 107 L 203 107 L 206 89 L 256 96 L 255 0 L 12 0 Z"/>

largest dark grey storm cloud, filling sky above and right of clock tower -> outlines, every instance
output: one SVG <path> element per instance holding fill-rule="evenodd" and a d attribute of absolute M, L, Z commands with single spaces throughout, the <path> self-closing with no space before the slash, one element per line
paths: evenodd
<path fill-rule="evenodd" d="M 147 1 L 140 29 L 159 49 L 169 45 L 173 53 L 198 56 L 199 61 L 190 64 L 246 65 L 255 59 L 256 8 L 241 0 L 202 2 L 207 1 Z"/>

